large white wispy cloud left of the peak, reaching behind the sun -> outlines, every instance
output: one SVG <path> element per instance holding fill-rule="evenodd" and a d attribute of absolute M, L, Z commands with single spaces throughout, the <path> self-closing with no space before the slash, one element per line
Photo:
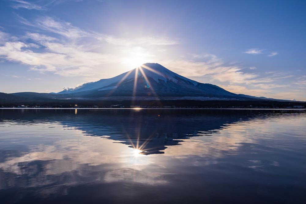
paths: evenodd
<path fill-rule="evenodd" d="M 41 73 L 51 71 L 63 76 L 93 76 L 104 72 L 110 76 L 109 71 L 100 67 L 106 64 L 118 66 L 135 53 L 140 53 L 142 59 L 149 59 L 154 56 L 150 49 L 178 43 L 166 37 L 121 38 L 84 31 L 51 17 L 40 17 L 34 22 L 20 16 L 18 19 L 36 32 L 26 32 L 14 39 L 6 37 L 0 42 L 0 57 L 29 65 L 30 70 Z M 9 36 L 3 32 L 0 34 Z"/>

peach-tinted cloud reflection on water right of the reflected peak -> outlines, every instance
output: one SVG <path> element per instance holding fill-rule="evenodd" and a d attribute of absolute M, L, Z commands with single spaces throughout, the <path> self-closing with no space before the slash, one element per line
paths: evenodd
<path fill-rule="evenodd" d="M 253 124 L 253 125 L 252 125 Z M 249 125 L 252 125 L 250 128 Z M 210 159 L 235 154 L 242 143 L 253 143 L 255 138 L 249 137 L 249 132 L 256 130 L 256 122 L 241 121 L 219 131 L 199 132 L 200 137 L 192 137 L 181 140 L 180 145 L 167 146 L 163 150 L 167 156 L 187 158 L 197 155 Z"/>

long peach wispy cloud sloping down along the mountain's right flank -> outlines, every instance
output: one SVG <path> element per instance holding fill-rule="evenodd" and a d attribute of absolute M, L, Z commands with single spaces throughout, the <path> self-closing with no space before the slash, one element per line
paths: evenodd
<path fill-rule="evenodd" d="M 218 85 L 233 93 L 243 93 L 252 96 L 265 96 L 274 98 L 298 98 L 298 92 L 304 88 L 296 89 L 297 92 L 288 94 L 288 91 L 294 87 L 288 82 L 293 78 L 293 74 L 282 72 L 261 73 L 252 68 L 249 73 L 243 66 L 235 63 L 224 62 L 216 55 L 193 55 L 195 59 L 201 59 L 201 62 L 192 60 L 174 60 L 163 62 L 170 70 L 175 70 L 178 74 L 193 78 L 203 83 L 212 83 Z M 293 81 L 293 79 L 289 80 Z M 300 77 L 300 83 L 304 78 Z M 282 90 L 282 92 L 279 92 Z M 277 93 L 278 92 L 278 93 Z M 285 93 L 281 96 L 280 93 Z"/>

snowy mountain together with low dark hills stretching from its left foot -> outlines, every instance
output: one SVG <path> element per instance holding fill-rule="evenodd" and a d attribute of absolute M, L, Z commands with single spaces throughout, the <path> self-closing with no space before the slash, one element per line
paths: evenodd
<path fill-rule="evenodd" d="M 109 79 L 88 82 L 59 93 L 0 94 L 0 102 L 66 102 L 134 100 L 277 100 L 235 94 L 216 85 L 200 83 L 157 63 L 145 63 Z M 286 100 L 278 100 L 286 101 Z"/>

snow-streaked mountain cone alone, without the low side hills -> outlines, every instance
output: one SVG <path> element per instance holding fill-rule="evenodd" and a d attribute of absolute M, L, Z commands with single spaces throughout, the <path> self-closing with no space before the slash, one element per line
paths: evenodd
<path fill-rule="evenodd" d="M 109 79 L 66 89 L 57 95 L 81 98 L 130 97 L 218 97 L 241 98 L 216 85 L 203 84 L 176 74 L 157 63 L 145 63 L 129 72 Z M 245 97 L 245 96 L 244 96 Z"/>

